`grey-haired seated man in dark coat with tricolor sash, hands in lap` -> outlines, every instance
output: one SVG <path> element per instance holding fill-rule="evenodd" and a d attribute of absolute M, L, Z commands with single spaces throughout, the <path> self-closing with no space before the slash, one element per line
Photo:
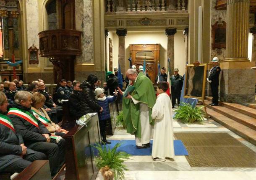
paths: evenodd
<path fill-rule="evenodd" d="M 56 137 L 50 137 L 51 133 L 31 112 L 31 103 L 31 93 L 18 91 L 8 117 L 28 148 L 48 156 L 51 174 L 55 176 L 65 163 L 65 140 L 56 141 Z"/>

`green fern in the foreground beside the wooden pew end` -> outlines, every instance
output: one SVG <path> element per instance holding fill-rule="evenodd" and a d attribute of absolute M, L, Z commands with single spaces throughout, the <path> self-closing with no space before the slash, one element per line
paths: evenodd
<path fill-rule="evenodd" d="M 98 156 L 95 157 L 96 166 L 102 168 L 105 166 L 110 167 L 115 174 L 115 180 L 124 179 L 124 171 L 128 170 L 123 162 L 129 160 L 130 154 L 126 152 L 117 152 L 117 148 L 120 147 L 121 143 L 117 143 L 111 150 L 106 145 L 100 145 L 97 143 L 95 148 L 98 150 Z"/>

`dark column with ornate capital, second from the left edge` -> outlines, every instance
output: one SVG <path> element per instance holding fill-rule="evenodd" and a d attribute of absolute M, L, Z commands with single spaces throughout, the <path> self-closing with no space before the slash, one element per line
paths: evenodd
<path fill-rule="evenodd" d="M 18 11 L 11 11 L 10 12 L 13 18 L 13 52 L 15 58 L 20 58 L 20 51 L 19 51 L 19 37 L 18 37 Z"/>

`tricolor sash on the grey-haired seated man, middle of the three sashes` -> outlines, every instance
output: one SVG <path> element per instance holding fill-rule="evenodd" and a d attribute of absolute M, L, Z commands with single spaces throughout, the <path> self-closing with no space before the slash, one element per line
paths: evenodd
<path fill-rule="evenodd" d="M 17 109 L 17 108 L 10 108 L 8 115 L 9 114 L 13 114 L 18 117 L 21 117 L 21 118 L 25 119 L 27 122 L 33 124 L 35 127 L 39 128 L 37 119 L 27 111 Z"/>

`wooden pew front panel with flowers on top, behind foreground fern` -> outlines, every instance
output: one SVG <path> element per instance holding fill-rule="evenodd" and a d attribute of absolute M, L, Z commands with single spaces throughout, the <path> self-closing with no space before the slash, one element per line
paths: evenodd
<path fill-rule="evenodd" d="M 95 115 L 83 127 L 75 126 L 64 136 L 66 141 L 65 180 L 95 180 L 98 168 L 93 146 L 99 143 L 99 119 Z"/>

